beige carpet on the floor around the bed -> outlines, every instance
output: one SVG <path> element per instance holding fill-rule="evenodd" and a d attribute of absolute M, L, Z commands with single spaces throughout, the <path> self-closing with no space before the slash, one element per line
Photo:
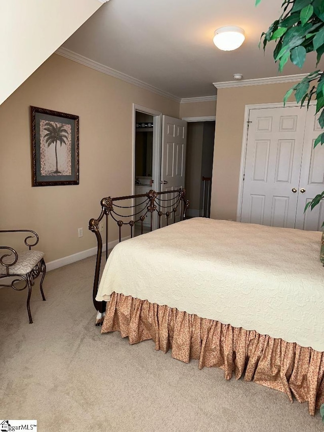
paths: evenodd
<path fill-rule="evenodd" d="M 39 432 L 312 432 L 319 414 L 255 383 L 224 379 L 154 350 L 100 334 L 92 305 L 94 257 L 26 291 L 0 289 L 0 419 L 36 419 Z"/>

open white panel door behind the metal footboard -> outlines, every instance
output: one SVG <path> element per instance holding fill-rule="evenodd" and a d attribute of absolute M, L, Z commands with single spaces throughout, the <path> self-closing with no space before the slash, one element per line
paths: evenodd
<path fill-rule="evenodd" d="M 184 188 L 187 122 L 167 115 L 162 117 L 160 190 Z M 169 194 L 168 194 L 169 195 Z M 180 213 L 177 213 L 179 218 Z"/>

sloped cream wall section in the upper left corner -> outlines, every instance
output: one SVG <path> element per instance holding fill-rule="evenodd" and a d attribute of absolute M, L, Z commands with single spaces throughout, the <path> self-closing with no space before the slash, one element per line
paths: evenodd
<path fill-rule="evenodd" d="M 2 0 L 0 103 L 100 6 L 98 0 Z"/>

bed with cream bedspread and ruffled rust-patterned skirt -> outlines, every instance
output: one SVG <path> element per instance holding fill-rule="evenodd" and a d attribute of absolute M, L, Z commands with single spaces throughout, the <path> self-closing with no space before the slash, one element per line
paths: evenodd
<path fill-rule="evenodd" d="M 308 402 L 313 415 L 324 403 L 320 240 L 317 231 L 193 218 L 121 242 L 94 287 L 106 304 L 101 331 L 153 339 L 175 359 Z"/>

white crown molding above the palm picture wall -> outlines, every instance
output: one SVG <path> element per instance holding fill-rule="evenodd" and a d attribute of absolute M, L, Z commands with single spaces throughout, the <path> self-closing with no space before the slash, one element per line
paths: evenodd
<path fill-rule="evenodd" d="M 91 67 L 92 69 L 98 70 L 99 72 L 103 72 L 106 75 L 114 76 L 119 80 L 126 81 L 129 84 L 133 84 L 134 86 L 140 87 L 141 89 L 148 90 L 149 92 L 152 93 L 156 93 L 159 96 L 163 96 L 167 99 L 171 99 L 178 103 L 181 102 L 181 98 L 179 98 L 178 96 L 172 95 L 171 93 L 168 92 L 164 92 L 163 90 L 159 90 L 156 87 L 143 83 L 143 81 L 137 80 L 132 76 L 126 75 L 126 73 L 119 72 L 118 70 L 112 69 L 111 67 L 105 66 L 104 64 L 98 63 L 94 60 L 89 59 L 88 57 L 84 57 L 64 47 L 60 47 L 58 50 L 55 51 L 55 53 L 62 57 L 66 57 L 69 60 L 73 60 L 77 63 Z"/>

